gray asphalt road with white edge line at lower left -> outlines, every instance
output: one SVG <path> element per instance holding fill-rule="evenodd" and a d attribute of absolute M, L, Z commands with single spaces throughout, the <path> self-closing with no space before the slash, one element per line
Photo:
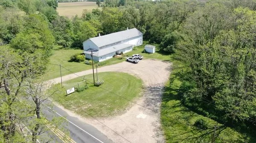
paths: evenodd
<path fill-rule="evenodd" d="M 113 143 L 113 141 L 109 140 L 108 137 L 103 135 L 96 128 L 80 121 L 76 117 L 68 115 L 67 112 L 63 111 L 62 109 L 54 106 L 53 110 L 55 112 L 53 112 L 51 109 L 49 109 L 49 107 L 47 107 L 47 102 L 45 102 L 45 104 L 42 106 L 46 107 L 44 108 L 43 112 L 49 118 L 49 120 L 51 119 L 53 113 L 55 113 L 57 116 L 61 115 L 68 120 L 65 128 L 68 129 L 70 132 L 70 137 L 76 143 Z M 60 142 L 59 139 L 58 142 Z"/>

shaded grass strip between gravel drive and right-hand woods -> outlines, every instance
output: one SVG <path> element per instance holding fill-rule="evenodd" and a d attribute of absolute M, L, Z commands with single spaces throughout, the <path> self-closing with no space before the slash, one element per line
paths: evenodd
<path fill-rule="evenodd" d="M 174 70 L 172 71 L 171 78 L 174 78 L 175 73 L 181 70 L 183 66 L 178 61 L 173 62 L 175 67 L 173 68 Z M 161 123 L 166 143 L 210 143 L 215 124 L 223 130 L 219 128 L 216 129 L 216 135 L 219 137 L 215 137 L 214 143 L 243 143 L 243 141 L 247 143 L 256 142 L 256 138 L 253 136 L 239 133 L 230 127 L 224 126 L 223 124 L 202 115 L 198 115 L 184 107 L 180 102 L 180 96 L 178 95 L 180 84 L 181 81 L 179 81 L 177 77 L 172 85 L 169 83 L 166 84 L 165 92 L 163 93 Z M 202 131 L 193 126 L 198 118 L 204 118 L 208 122 L 208 129 L 206 129 L 206 131 Z M 207 133 L 207 131 L 209 133 Z M 221 137 L 224 138 L 224 140 L 221 139 Z"/>

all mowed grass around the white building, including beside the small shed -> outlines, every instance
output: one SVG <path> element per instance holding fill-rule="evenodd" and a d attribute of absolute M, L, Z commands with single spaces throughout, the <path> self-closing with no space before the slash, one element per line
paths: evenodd
<path fill-rule="evenodd" d="M 125 54 L 132 55 L 132 54 L 139 53 L 144 56 L 144 59 L 159 59 L 159 60 L 169 61 L 169 62 L 173 60 L 172 55 L 161 53 L 158 49 L 156 49 L 155 53 L 141 53 L 144 50 L 144 46 L 146 44 L 148 44 L 148 42 L 143 42 L 143 45 L 135 47 L 136 50 L 132 50 L 131 52 L 128 52 Z M 92 69 L 91 65 L 84 64 L 84 62 L 80 62 L 80 63 L 69 62 L 70 56 L 76 53 L 83 53 L 83 50 L 60 49 L 59 46 L 56 46 L 53 50 L 53 55 L 50 57 L 50 63 L 61 64 L 61 66 L 67 68 L 73 73 Z M 112 58 L 104 62 L 106 63 L 105 65 L 110 65 L 110 64 L 117 64 L 123 61 L 125 61 L 125 59 Z M 60 67 L 58 65 L 52 65 L 52 64 L 49 64 L 48 66 L 48 72 L 45 75 L 45 80 L 54 79 L 54 78 L 60 77 L 61 75 L 65 76 L 65 75 L 71 74 L 70 71 L 64 68 L 61 68 L 61 73 L 60 73 Z M 102 66 L 105 66 L 105 65 L 102 65 Z M 99 66 L 99 67 L 102 67 L 102 66 Z"/>

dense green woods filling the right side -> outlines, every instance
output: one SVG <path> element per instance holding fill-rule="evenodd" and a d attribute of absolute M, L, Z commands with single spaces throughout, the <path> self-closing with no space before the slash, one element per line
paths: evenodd
<path fill-rule="evenodd" d="M 255 0 L 212 0 L 170 38 L 176 58 L 185 63 L 183 104 L 247 132 L 256 129 L 255 10 Z"/>

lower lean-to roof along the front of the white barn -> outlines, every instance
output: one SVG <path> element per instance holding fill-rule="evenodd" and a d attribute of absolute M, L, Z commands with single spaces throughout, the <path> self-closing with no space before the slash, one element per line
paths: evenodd
<path fill-rule="evenodd" d="M 101 49 L 101 50 L 98 50 L 98 51 L 96 50 L 95 52 L 93 52 L 93 56 L 97 56 L 97 57 L 104 56 L 108 53 L 116 52 L 118 50 L 121 50 L 121 49 L 124 49 L 124 48 L 127 48 L 127 47 L 131 47 L 131 46 L 132 46 L 131 44 L 113 45 L 111 47 L 104 48 L 104 49 Z M 88 50 L 84 51 L 84 53 L 91 54 L 91 52 L 88 51 Z"/>

